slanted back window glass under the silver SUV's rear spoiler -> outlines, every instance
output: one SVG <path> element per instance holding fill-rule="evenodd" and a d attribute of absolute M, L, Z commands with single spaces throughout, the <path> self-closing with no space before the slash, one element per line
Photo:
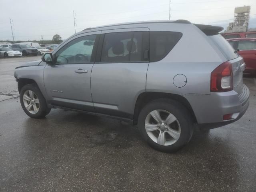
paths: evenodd
<path fill-rule="evenodd" d="M 238 54 L 234 53 L 234 48 L 221 35 L 212 35 L 208 37 L 220 49 L 227 60 L 238 58 Z"/>

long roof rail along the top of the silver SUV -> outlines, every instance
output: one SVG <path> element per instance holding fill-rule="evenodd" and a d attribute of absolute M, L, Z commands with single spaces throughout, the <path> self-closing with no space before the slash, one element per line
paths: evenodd
<path fill-rule="evenodd" d="M 188 20 L 160 20 L 160 21 L 142 21 L 142 22 L 129 22 L 129 23 L 119 23 L 119 24 L 112 24 L 112 25 L 105 25 L 99 27 L 89 27 L 84 29 L 83 31 L 90 30 L 90 29 L 97 29 L 97 28 L 104 28 L 104 27 L 112 27 L 112 26 L 122 26 L 122 25 L 132 25 L 132 24 L 146 24 L 146 23 L 181 23 L 181 24 L 191 24 Z"/>

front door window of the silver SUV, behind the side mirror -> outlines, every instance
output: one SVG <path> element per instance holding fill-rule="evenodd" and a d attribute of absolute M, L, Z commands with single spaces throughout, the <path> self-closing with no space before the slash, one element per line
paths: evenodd
<path fill-rule="evenodd" d="M 63 46 L 56 54 L 58 64 L 79 64 L 93 62 L 92 50 L 97 35 L 76 38 Z"/>

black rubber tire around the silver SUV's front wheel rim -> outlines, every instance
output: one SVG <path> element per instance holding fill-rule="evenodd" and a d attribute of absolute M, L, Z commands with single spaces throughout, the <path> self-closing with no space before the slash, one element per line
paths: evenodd
<path fill-rule="evenodd" d="M 30 113 L 24 105 L 23 95 L 24 95 L 24 92 L 26 92 L 27 90 L 32 90 L 36 94 L 37 98 L 39 99 L 40 107 L 36 114 Z M 47 107 L 45 98 L 42 95 L 41 91 L 39 90 L 39 88 L 36 84 L 27 84 L 22 87 L 22 89 L 20 90 L 20 104 L 21 104 L 24 112 L 31 118 L 36 118 L 36 119 L 44 118 L 44 116 L 49 114 L 51 111 L 51 109 Z"/>

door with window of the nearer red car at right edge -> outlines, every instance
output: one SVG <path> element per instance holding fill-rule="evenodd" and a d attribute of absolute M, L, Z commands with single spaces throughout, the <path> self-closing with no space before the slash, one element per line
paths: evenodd
<path fill-rule="evenodd" d="M 256 71 L 256 41 L 240 40 L 238 49 L 238 53 L 244 58 L 246 69 Z"/>

